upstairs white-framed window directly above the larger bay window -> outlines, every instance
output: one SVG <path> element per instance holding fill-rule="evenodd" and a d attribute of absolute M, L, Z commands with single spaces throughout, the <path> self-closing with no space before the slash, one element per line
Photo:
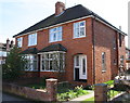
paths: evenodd
<path fill-rule="evenodd" d="M 50 42 L 62 41 L 62 26 L 50 29 Z"/>

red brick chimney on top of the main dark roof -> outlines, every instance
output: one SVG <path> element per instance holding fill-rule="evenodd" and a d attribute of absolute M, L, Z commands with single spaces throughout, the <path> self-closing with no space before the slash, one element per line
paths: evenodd
<path fill-rule="evenodd" d="M 58 15 L 64 11 L 65 11 L 65 4 L 63 2 L 57 1 L 55 3 L 55 15 Z"/>

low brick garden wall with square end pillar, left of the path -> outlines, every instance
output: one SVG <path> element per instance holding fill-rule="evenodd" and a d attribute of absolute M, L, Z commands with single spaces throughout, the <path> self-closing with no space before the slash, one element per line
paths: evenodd
<path fill-rule="evenodd" d="M 57 79 L 47 79 L 47 90 L 3 82 L 3 91 L 38 101 L 56 101 Z"/>

